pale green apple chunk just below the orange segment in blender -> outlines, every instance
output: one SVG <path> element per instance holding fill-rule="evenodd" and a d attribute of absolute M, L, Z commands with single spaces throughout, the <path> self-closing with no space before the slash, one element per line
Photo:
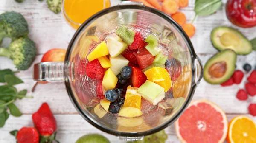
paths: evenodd
<path fill-rule="evenodd" d="M 142 84 L 137 92 L 154 105 L 157 105 L 165 97 L 164 88 L 151 81 Z"/>

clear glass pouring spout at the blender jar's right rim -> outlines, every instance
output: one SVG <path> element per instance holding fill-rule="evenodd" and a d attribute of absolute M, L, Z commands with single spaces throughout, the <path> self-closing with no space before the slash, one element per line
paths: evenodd
<path fill-rule="evenodd" d="M 201 60 L 196 57 L 194 60 L 194 64 L 195 64 L 195 85 L 199 84 L 201 79 L 203 78 L 203 64 L 201 62 Z"/>

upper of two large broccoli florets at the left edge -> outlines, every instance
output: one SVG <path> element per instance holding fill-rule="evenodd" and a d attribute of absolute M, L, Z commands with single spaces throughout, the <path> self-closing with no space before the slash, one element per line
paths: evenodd
<path fill-rule="evenodd" d="M 16 38 L 29 34 L 28 23 L 17 12 L 5 12 L 0 14 L 0 41 L 4 37 Z"/>

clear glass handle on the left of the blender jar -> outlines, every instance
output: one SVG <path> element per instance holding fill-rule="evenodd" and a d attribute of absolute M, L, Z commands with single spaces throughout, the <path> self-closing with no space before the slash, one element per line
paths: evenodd
<path fill-rule="evenodd" d="M 34 64 L 35 81 L 64 81 L 64 62 L 39 62 Z"/>

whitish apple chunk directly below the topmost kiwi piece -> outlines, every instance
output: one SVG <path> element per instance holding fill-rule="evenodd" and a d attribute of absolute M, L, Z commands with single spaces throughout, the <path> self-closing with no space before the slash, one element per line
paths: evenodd
<path fill-rule="evenodd" d="M 119 36 L 110 36 L 107 38 L 107 47 L 110 56 L 115 58 L 128 47 L 128 44 L 123 42 Z"/>

